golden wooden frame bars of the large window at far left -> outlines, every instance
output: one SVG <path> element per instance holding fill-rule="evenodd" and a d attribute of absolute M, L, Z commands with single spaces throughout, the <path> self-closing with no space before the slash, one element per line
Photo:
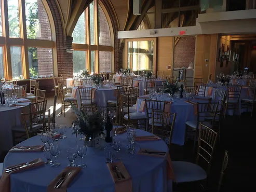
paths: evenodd
<path fill-rule="evenodd" d="M 46 1 L 41 0 L 42 4 L 47 13 L 47 17 L 50 24 L 51 30 L 51 39 L 52 40 L 42 40 L 42 39 L 28 39 L 26 36 L 26 16 L 25 16 L 25 1 L 19 1 L 19 23 L 20 23 L 20 37 L 14 38 L 9 36 L 9 20 L 8 20 L 8 2 L 5 0 L 0 0 L 2 3 L 2 28 L 3 28 L 3 36 L 0 36 L 0 46 L 3 47 L 3 55 L 4 55 L 4 75 L 5 79 L 12 79 L 12 68 L 11 68 L 11 54 L 10 47 L 11 46 L 20 46 L 21 47 L 21 65 L 22 65 L 22 76 L 24 79 L 30 78 L 29 72 L 29 56 L 28 56 L 28 47 L 36 47 L 36 48 L 51 48 L 52 49 L 52 59 L 53 59 L 53 76 L 57 73 L 55 64 L 56 60 L 56 50 L 55 50 L 55 29 L 53 26 L 52 16 L 48 14 Z"/>

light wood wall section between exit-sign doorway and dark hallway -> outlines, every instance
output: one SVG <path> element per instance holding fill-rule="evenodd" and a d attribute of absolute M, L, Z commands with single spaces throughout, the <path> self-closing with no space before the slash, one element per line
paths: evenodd
<path fill-rule="evenodd" d="M 209 75 L 212 76 L 213 81 L 215 80 L 217 41 L 217 34 L 196 37 L 194 78 L 204 78 L 205 83 Z"/>

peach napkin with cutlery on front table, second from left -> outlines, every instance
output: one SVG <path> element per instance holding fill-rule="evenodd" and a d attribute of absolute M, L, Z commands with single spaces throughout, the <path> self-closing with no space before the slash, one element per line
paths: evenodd
<path fill-rule="evenodd" d="M 47 187 L 47 192 L 66 192 L 66 188 L 68 188 L 69 184 L 72 182 L 74 177 L 80 172 L 81 168 L 79 167 L 66 167 L 58 176 L 53 179 Z M 69 174 L 70 173 L 70 174 Z M 65 181 L 63 184 L 57 189 L 53 188 L 61 179 L 62 175 L 65 175 Z"/>

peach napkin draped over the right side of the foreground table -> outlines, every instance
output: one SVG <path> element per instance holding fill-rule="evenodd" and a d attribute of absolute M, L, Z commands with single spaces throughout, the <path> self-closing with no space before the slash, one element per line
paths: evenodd
<path fill-rule="evenodd" d="M 147 153 L 144 153 L 144 152 L 147 152 Z M 151 153 L 149 153 L 151 152 Z M 156 153 L 154 153 L 156 152 Z M 167 162 L 167 178 L 169 180 L 175 180 L 175 177 L 174 177 L 174 171 L 173 171 L 173 167 L 172 167 L 172 162 L 171 162 L 171 157 L 170 157 L 170 154 L 169 152 L 166 152 L 165 155 L 159 155 L 159 154 L 164 154 L 164 153 L 159 153 L 157 150 L 152 150 L 152 149 L 143 149 L 141 148 L 138 152 L 139 155 L 148 155 L 148 156 L 154 156 L 154 157 L 163 157 L 166 159 L 166 162 Z"/>

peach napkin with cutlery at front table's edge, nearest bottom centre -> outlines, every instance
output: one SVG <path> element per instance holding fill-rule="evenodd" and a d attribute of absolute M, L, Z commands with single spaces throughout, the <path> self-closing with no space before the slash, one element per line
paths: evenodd
<path fill-rule="evenodd" d="M 125 168 L 125 165 L 122 161 L 107 163 L 107 168 L 109 168 L 112 179 L 115 183 L 115 192 L 132 192 L 132 180 L 131 176 Z M 123 174 L 125 179 L 118 180 L 117 173 L 115 172 L 115 166 L 117 166 L 120 172 Z M 119 174 L 120 177 L 122 175 Z M 48 191 L 47 191 L 48 192 Z"/>

